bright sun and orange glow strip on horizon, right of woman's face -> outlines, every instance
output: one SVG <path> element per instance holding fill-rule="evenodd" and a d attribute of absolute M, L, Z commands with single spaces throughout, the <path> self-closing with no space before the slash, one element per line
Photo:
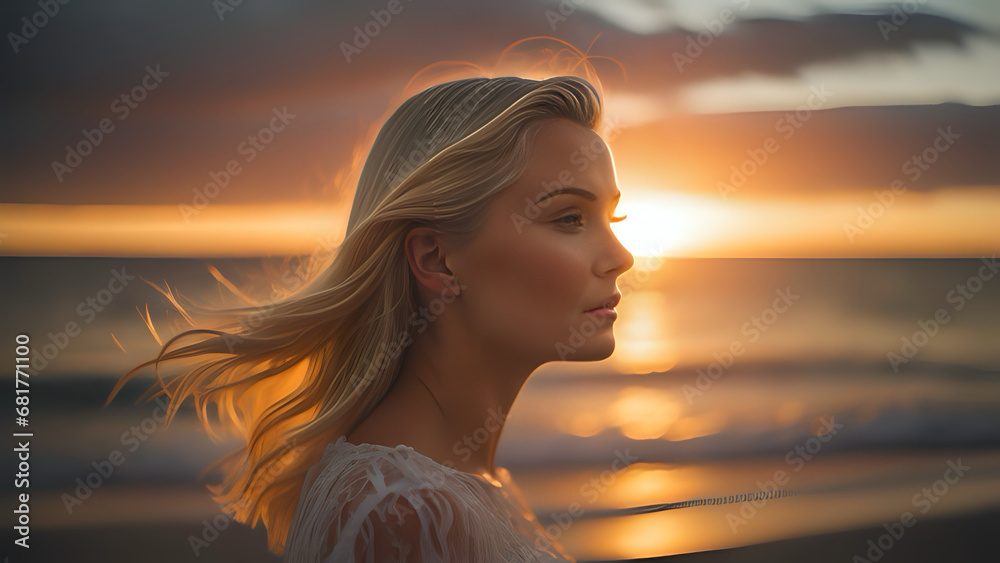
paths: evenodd
<path fill-rule="evenodd" d="M 626 187 L 618 211 L 628 219 L 613 229 L 636 256 L 980 257 L 1000 247 L 992 188 L 904 192 L 880 206 L 871 192 L 723 200 Z"/>

